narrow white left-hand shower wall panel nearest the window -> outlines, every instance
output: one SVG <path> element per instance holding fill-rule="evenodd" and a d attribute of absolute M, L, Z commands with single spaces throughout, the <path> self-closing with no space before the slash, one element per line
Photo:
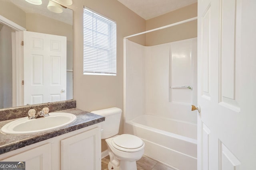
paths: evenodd
<path fill-rule="evenodd" d="M 145 113 L 146 47 L 124 39 L 124 119 Z"/>

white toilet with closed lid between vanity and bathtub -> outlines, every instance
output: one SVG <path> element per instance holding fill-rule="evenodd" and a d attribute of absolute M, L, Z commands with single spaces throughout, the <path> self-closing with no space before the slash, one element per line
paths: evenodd
<path fill-rule="evenodd" d="M 122 110 L 112 107 L 91 112 L 105 117 L 105 121 L 102 122 L 101 139 L 105 139 L 108 145 L 108 170 L 137 170 L 136 161 L 144 154 L 145 144 L 134 135 L 117 135 Z"/>

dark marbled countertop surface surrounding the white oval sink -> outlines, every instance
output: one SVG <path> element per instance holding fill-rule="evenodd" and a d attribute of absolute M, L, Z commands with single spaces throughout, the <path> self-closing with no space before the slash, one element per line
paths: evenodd
<path fill-rule="evenodd" d="M 76 120 L 68 125 L 52 129 L 46 132 L 26 134 L 26 135 L 5 135 L 0 133 L 0 154 L 16 150 L 27 145 L 38 143 L 52 137 L 60 136 L 68 132 L 75 131 L 96 123 L 100 123 L 105 120 L 101 115 L 96 115 L 81 109 L 73 108 L 66 109 L 56 112 L 66 112 L 76 115 Z M 39 118 L 43 119 L 43 118 Z M 0 121 L 0 128 L 2 128 L 6 123 L 12 120 Z"/>

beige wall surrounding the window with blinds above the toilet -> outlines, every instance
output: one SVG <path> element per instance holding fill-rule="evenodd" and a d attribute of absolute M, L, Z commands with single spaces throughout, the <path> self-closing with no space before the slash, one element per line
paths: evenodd
<path fill-rule="evenodd" d="M 117 76 L 83 74 L 83 6 L 117 24 Z M 119 107 L 123 109 L 123 37 L 145 31 L 146 21 L 117 0 L 73 0 L 70 6 L 74 22 L 74 99 L 79 109 L 86 111 Z M 145 45 L 145 35 L 132 41 Z M 122 124 L 120 133 L 122 133 Z M 106 144 L 102 141 L 102 151 Z"/>

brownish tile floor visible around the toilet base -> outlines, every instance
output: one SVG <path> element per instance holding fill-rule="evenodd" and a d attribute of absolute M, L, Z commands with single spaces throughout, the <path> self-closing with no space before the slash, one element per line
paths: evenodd
<path fill-rule="evenodd" d="M 101 170 L 108 170 L 109 156 L 102 158 L 101 160 Z M 138 170 L 174 170 L 161 164 L 153 159 L 148 158 L 147 156 L 142 156 L 140 160 L 137 161 Z"/>

